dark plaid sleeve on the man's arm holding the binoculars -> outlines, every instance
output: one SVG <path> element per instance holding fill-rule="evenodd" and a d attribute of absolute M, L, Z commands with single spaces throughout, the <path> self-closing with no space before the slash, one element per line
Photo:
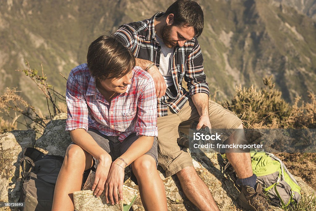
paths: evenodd
<path fill-rule="evenodd" d="M 190 96 L 196 93 L 206 93 L 210 95 L 206 75 L 203 70 L 202 51 L 198 41 L 195 39 L 192 52 L 187 58 L 187 70 L 184 77 L 184 80 L 187 82 Z"/>

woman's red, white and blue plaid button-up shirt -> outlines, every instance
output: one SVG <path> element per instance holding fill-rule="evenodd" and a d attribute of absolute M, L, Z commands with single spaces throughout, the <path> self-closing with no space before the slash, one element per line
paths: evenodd
<path fill-rule="evenodd" d="M 133 69 L 126 92 L 109 104 L 96 88 L 87 64 L 81 64 L 69 74 L 66 101 L 66 130 L 93 128 L 106 136 L 119 136 L 121 142 L 135 132 L 138 136 L 158 136 L 154 80 L 140 67 Z"/>

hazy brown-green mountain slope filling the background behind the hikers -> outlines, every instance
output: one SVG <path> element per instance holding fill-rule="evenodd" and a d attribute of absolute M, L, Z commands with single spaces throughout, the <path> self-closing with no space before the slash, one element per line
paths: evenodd
<path fill-rule="evenodd" d="M 86 61 L 88 45 L 119 25 L 150 18 L 173 1 L 0 1 L 0 92 L 19 87 L 34 105 L 45 102 L 30 80 L 15 69 L 40 69 L 64 93 L 70 69 Z M 204 10 L 198 38 L 211 93 L 229 99 L 235 85 L 261 87 L 275 76 L 284 99 L 316 92 L 315 22 L 287 4 L 267 0 L 197 1 Z M 110 31 L 110 32 L 107 32 Z"/>

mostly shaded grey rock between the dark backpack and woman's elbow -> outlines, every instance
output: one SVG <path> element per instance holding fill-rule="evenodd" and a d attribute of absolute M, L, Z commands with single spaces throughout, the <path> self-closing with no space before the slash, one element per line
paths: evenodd
<path fill-rule="evenodd" d="M 65 131 L 67 114 L 60 113 L 50 121 L 43 135 L 36 140 L 35 148 L 46 154 L 65 156 L 71 143 L 69 131 Z"/>

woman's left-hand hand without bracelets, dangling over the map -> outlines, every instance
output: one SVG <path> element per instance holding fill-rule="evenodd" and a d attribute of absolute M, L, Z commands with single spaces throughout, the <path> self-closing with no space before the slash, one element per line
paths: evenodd
<path fill-rule="evenodd" d="M 94 183 L 91 190 L 94 191 L 93 194 L 99 197 L 104 190 L 104 185 L 106 183 L 107 176 L 111 167 L 111 156 L 109 154 L 101 156 L 98 160 L 98 165 L 95 171 Z"/>

